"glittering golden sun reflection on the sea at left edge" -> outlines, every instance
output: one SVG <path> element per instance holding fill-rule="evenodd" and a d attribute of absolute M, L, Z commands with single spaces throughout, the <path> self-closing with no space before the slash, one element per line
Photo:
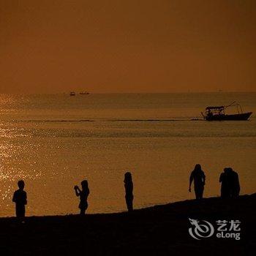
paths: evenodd
<path fill-rule="evenodd" d="M 16 113 L 17 112 L 17 113 Z M 32 129 L 24 127 L 17 120 L 13 97 L 0 94 L 0 208 L 4 216 L 13 212 L 12 194 L 17 189 L 17 181 L 23 179 L 26 184 L 37 180 L 41 175 L 38 167 L 39 143 L 34 143 Z M 12 120 L 12 115 L 15 119 Z"/>

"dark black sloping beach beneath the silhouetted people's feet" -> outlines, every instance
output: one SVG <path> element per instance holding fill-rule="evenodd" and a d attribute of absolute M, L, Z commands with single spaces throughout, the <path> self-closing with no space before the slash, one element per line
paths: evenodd
<path fill-rule="evenodd" d="M 206 198 L 135 210 L 0 219 L 0 255 L 255 255 L 256 194 Z M 189 219 L 240 220 L 241 240 L 189 236 Z"/>

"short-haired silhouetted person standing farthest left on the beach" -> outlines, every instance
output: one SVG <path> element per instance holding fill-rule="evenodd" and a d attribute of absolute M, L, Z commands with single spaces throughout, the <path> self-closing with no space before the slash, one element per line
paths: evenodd
<path fill-rule="evenodd" d="M 25 182 L 18 181 L 19 189 L 16 190 L 12 197 L 12 202 L 15 203 L 16 216 L 19 218 L 25 217 L 25 206 L 27 203 L 26 200 L 26 191 L 24 191 Z"/>

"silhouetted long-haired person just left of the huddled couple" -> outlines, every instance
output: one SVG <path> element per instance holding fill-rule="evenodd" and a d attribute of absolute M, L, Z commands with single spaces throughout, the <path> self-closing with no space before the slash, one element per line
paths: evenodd
<path fill-rule="evenodd" d="M 201 165 L 195 165 L 194 170 L 189 177 L 189 192 L 191 192 L 191 184 L 194 181 L 194 189 L 195 189 L 195 198 L 202 199 L 203 198 L 203 189 L 206 184 L 206 176 L 201 169 Z"/>

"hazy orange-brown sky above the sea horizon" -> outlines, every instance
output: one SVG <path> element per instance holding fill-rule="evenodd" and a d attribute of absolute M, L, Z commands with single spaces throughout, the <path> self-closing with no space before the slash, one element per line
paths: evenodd
<path fill-rule="evenodd" d="M 0 0 L 0 93 L 255 91 L 255 49 L 254 0 Z"/>

